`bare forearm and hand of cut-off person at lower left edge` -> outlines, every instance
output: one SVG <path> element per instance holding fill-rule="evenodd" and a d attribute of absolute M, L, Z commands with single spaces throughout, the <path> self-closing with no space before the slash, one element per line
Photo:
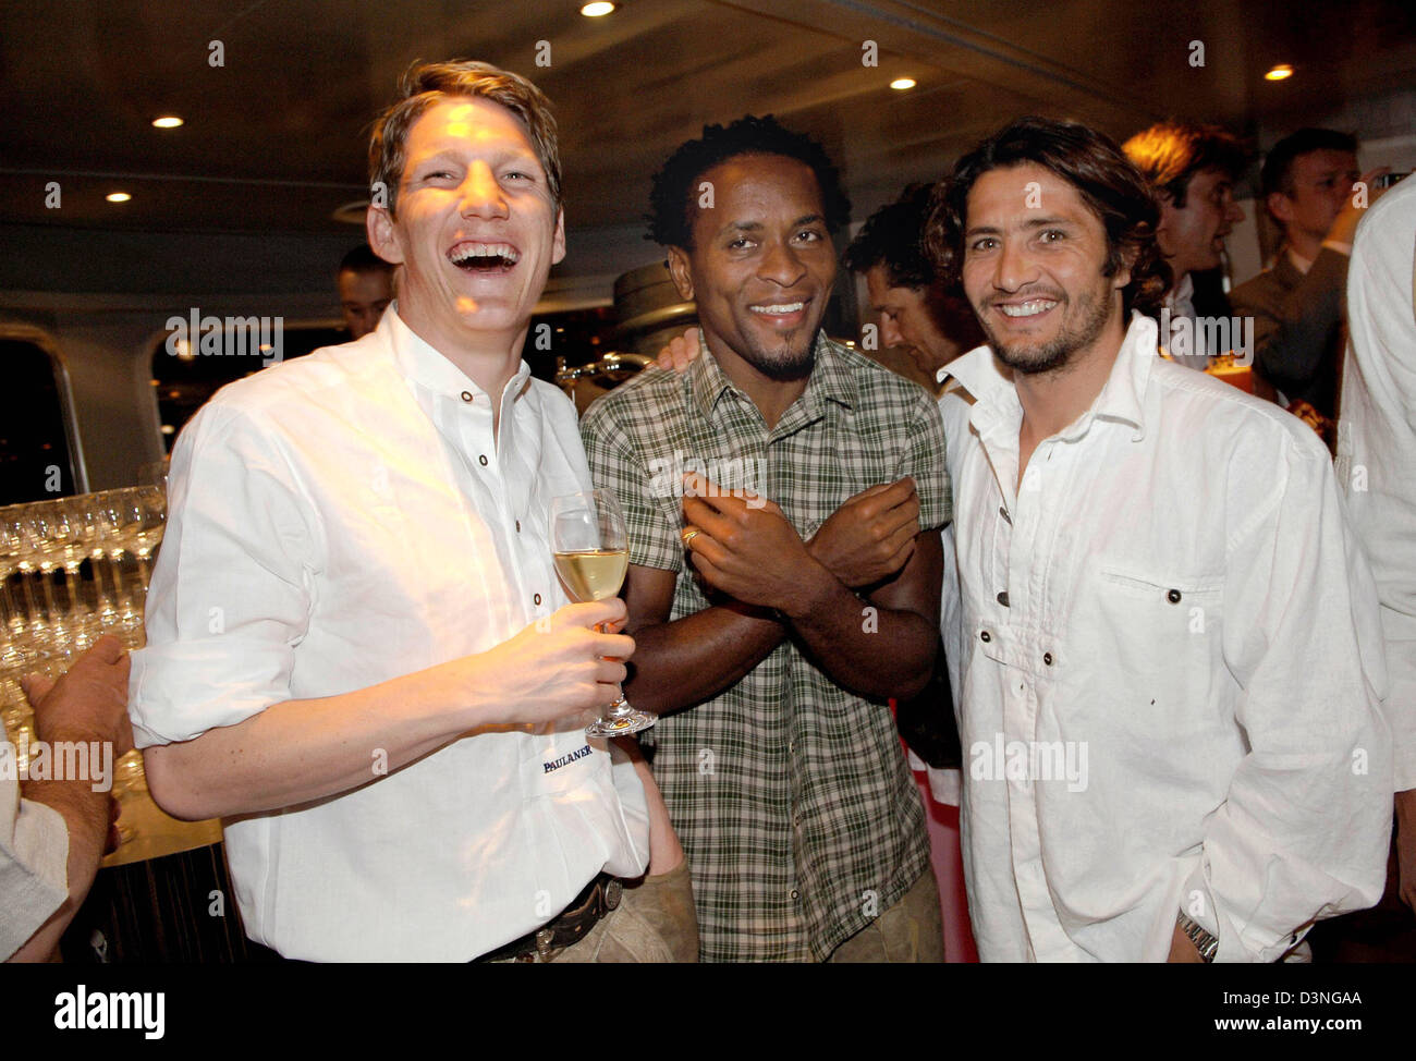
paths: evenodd
<path fill-rule="evenodd" d="M 105 636 L 58 681 L 25 679 L 24 694 L 34 705 L 35 737 L 51 745 L 59 741 L 112 744 L 113 759 L 125 755 L 133 747 L 127 722 L 127 671 L 123 646 Z M 8 959 L 45 962 L 93 885 L 112 822 L 110 799 L 106 789 L 95 792 L 89 779 L 25 781 L 20 795 L 59 812 L 69 834 L 68 898 Z"/>

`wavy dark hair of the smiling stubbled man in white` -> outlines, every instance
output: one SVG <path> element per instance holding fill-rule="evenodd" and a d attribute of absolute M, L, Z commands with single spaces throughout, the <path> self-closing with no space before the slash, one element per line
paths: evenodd
<path fill-rule="evenodd" d="M 1106 228 L 1104 276 L 1114 276 L 1127 259 L 1131 282 L 1121 289 L 1127 313 L 1160 312 L 1172 273 L 1155 244 L 1160 207 L 1140 170 L 1102 133 L 1075 122 L 1020 118 L 986 139 L 954 166 L 953 176 L 935 187 L 925 246 L 947 283 L 959 283 L 969 227 L 969 193 L 990 170 L 1034 163 L 1075 187 Z"/>

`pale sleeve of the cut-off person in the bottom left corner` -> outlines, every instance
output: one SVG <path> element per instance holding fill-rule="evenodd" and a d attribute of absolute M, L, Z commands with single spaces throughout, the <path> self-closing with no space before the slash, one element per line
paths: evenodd
<path fill-rule="evenodd" d="M 0 962 L 68 898 L 68 860 L 59 812 L 20 799 L 17 782 L 0 781 Z"/>

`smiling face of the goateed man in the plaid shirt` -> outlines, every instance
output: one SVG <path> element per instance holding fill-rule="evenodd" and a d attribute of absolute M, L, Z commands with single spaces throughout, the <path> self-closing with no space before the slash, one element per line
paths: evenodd
<path fill-rule="evenodd" d="M 835 280 L 821 190 L 806 163 L 745 154 L 707 170 L 714 207 L 694 217 L 694 249 L 670 248 L 670 272 L 698 303 L 708 348 L 767 380 L 800 380 Z"/>

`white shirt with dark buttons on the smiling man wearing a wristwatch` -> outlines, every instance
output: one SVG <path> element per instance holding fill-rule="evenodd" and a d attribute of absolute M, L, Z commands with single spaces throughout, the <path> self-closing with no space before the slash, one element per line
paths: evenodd
<path fill-rule="evenodd" d="M 1219 960 L 1273 960 L 1382 894 L 1375 591 L 1328 456 L 1155 334 L 1133 320 L 1021 490 L 1012 382 L 987 347 L 950 365 L 984 960 L 1164 960 L 1181 911 Z"/>

